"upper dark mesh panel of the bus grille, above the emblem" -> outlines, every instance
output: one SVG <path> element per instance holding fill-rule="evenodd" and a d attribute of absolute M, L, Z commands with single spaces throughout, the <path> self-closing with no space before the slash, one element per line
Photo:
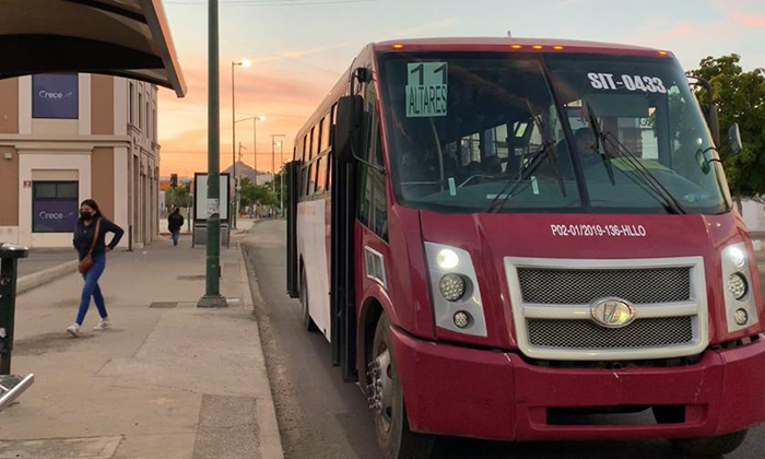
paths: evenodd
<path fill-rule="evenodd" d="M 519 268 L 523 303 L 589 304 L 615 296 L 634 304 L 691 298 L 691 268 L 548 269 Z"/>

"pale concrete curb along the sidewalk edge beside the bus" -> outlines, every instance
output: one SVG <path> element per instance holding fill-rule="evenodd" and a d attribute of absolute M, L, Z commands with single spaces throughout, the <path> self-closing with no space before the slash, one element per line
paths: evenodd
<path fill-rule="evenodd" d="M 252 310 L 255 314 L 255 303 L 256 301 L 262 302 L 260 296 L 260 290 L 257 289 L 258 282 L 254 281 L 256 285 L 256 291 L 250 289 L 249 276 L 247 275 L 247 257 L 245 255 L 245 248 L 237 240 L 236 245 L 239 248 L 239 256 L 242 257 L 242 262 L 239 263 L 239 275 L 242 279 L 242 284 L 244 285 L 244 306 Z M 260 342 L 258 361 L 262 362 L 258 370 L 268 375 L 266 369 L 266 356 L 263 355 L 263 345 L 260 338 L 260 327 L 258 330 L 258 342 Z M 262 401 L 262 403 L 261 403 Z M 258 426 L 259 426 L 259 440 L 260 440 L 260 454 L 261 457 L 268 459 L 284 459 L 284 451 L 282 449 L 282 437 L 279 433 L 279 422 L 276 421 L 276 407 L 273 404 L 273 392 L 271 391 L 271 384 L 269 381 L 269 398 L 268 400 L 258 400 L 256 404 L 258 411 Z"/>

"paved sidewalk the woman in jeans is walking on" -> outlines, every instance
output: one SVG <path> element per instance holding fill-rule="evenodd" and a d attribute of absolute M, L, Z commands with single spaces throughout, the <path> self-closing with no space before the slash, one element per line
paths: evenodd
<path fill-rule="evenodd" d="M 35 385 L 0 414 L 0 459 L 282 458 L 238 243 L 221 250 L 224 309 L 199 309 L 204 248 L 181 238 L 110 257 L 101 285 L 113 328 L 71 338 L 82 280 L 16 303 L 13 373 Z"/>

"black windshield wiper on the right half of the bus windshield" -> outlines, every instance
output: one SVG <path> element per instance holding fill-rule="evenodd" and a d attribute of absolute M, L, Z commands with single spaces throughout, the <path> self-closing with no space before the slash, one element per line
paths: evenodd
<path fill-rule="evenodd" d="M 621 158 L 633 167 L 634 174 L 625 173 L 627 177 L 629 177 L 636 185 L 640 186 L 646 191 L 649 191 L 649 193 L 662 204 L 667 212 L 673 214 L 687 213 L 680 202 L 678 202 L 674 196 L 667 189 L 667 187 L 664 187 L 659 179 L 657 179 L 656 176 L 648 170 L 648 168 L 637 156 L 635 156 L 632 151 L 629 151 L 629 149 L 627 149 L 612 132 L 603 132 L 600 130 L 597 121 L 597 115 L 592 111 L 592 107 L 589 103 L 587 104 L 587 116 L 590 121 L 590 129 L 592 129 L 592 133 L 596 136 L 597 145 L 602 145 L 603 148 L 602 158 L 603 162 L 607 163 L 605 169 L 609 173 L 609 178 L 611 179 L 612 185 L 616 185 L 616 183 L 614 180 L 613 164 L 611 162 L 614 156 L 609 150 L 609 141 L 616 145 L 616 148 L 619 148 L 623 153 Z M 636 178 L 639 178 L 640 180 L 636 180 Z"/>

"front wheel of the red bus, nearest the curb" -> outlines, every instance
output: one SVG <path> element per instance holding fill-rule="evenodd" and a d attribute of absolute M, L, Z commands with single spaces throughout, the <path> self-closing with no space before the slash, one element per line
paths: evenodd
<path fill-rule="evenodd" d="M 377 444 L 385 459 L 426 459 L 431 457 L 435 437 L 409 429 L 403 391 L 391 352 L 389 327 L 388 317 L 382 314 L 375 330 L 367 373 L 367 393 L 375 416 Z"/>

